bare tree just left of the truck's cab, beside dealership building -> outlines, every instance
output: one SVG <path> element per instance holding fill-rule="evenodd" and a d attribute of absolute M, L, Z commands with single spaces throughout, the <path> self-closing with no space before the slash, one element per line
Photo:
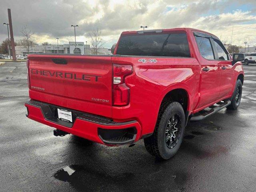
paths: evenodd
<path fill-rule="evenodd" d="M 89 36 L 91 38 L 92 53 L 97 55 L 100 48 L 104 46 L 104 43 L 102 42 L 101 31 L 98 28 L 94 29 L 89 33 Z"/>

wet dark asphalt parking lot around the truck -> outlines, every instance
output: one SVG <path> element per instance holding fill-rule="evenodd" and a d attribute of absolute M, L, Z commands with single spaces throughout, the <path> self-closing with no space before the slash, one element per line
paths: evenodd
<path fill-rule="evenodd" d="M 238 110 L 189 123 L 176 156 L 88 144 L 26 118 L 26 63 L 0 66 L 0 191 L 232 191 L 256 189 L 256 65 L 244 66 Z M 70 175 L 69 175 L 70 174 Z"/>

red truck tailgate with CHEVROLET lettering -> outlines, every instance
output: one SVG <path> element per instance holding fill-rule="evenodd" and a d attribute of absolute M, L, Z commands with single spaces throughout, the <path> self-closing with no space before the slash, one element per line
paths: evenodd
<path fill-rule="evenodd" d="M 29 55 L 28 60 L 31 99 L 111 117 L 111 56 Z"/>

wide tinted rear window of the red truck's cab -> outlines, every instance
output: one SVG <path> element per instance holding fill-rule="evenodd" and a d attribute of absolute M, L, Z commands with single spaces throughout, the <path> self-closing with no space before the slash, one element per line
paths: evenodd
<path fill-rule="evenodd" d="M 118 55 L 190 57 L 185 33 L 121 36 Z"/>

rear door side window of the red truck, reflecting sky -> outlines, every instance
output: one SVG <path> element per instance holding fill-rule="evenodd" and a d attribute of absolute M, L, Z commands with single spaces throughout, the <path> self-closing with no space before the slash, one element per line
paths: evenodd
<path fill-rule="evenodd" d="M 195 36 L 200 54 L 206 59 L 214 59 L 210 38 Z"/>

